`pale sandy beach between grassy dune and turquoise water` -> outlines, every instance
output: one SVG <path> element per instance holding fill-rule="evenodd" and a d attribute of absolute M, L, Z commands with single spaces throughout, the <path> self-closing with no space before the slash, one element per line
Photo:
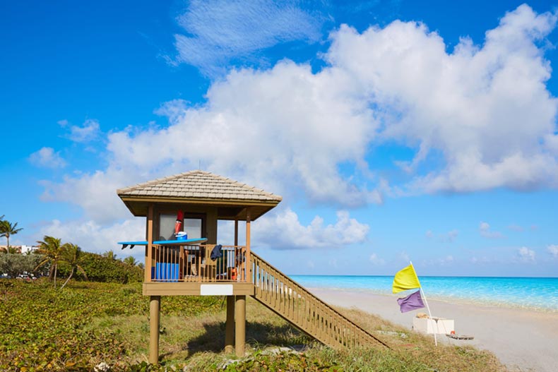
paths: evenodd
<path fill-rule="evenodd" d="M 397 296 L 331 289 L 311 292 L 333 306 L 359 308 L 406 328 L 412 328 L 412 318 L 417 313 L 400 313 Z M 461 341 L 439 335 L 439 341 L 487 349 L 511 371 L 558 371 L 558 313 L 432 299 L 428 302 L 432 316 L 453 319 L 456 333 L 475 337 Z"/>

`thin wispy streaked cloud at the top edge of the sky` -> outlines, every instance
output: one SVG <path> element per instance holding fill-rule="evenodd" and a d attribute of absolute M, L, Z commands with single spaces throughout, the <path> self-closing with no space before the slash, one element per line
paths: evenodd
<path fill-rule="evenodd" d="M 275 44 L 316 41 L 321 28 L 296 1 L 271 0 L 191 1 L 178 23 L 191 36 L 174 35 L 177 62 L 209 76 L 225 72 L 235 57 L 256 61 L 254 53 Z"/>

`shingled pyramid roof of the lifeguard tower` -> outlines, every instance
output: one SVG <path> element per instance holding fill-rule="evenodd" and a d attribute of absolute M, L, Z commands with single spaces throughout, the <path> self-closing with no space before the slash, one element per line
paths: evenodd
<path fill-rule="evenodd" d="M 261 215 L 282 199 L 260 188 L 200 170 L 119 188 L 117 194 L 134 215 L 145 215 L 148 202 L 215 206 L 259 205 L 265 207 L 259 208 Z"/>

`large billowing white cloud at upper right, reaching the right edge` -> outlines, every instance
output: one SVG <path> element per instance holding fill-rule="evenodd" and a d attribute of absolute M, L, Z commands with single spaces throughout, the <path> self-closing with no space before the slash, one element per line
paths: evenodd
<path fill-rule="evenodd" d="M 464 38 L 451 54 L 420 23 L 362 34 L 343 26 L 327 59 L 386 111 L 384 138 L 417 148 L 410 169 L 433 151 L 443 155 L 445 167 L 417 174 L 407 192 L 556 187 L 557 100 L 538 48 L 556 21 L 522 5 L 487 32 L 482 47 Z"/>

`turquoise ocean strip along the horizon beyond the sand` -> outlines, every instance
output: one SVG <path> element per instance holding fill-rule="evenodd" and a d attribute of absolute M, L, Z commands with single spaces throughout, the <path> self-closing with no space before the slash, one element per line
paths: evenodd
<path fill-rule="evenodd" d="M 393 276 L 290 275 L 290 277 L 309 289 L 337 289 L 393 295 L 391 294 Z M 419 279 L 427 299 L 558 312 L 557 277 L 420 277 Z"/>

